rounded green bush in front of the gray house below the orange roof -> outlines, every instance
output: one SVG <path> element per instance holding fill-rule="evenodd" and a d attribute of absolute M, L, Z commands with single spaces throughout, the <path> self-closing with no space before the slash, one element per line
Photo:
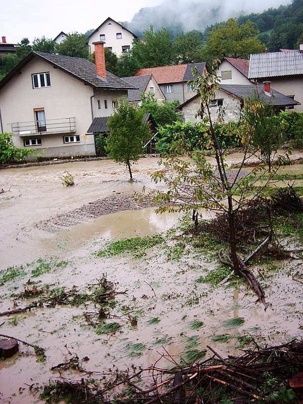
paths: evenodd
<path fill-rule="evenodd" d="M 158 104 L 154 95 L 143 94 L 141 98 L 141 110 L 144 114 L 151 114 L 158 125 L 169 125 L 176 121 L 180 121 L 180 115 L 176 114 L 175 109 L 178 107 L 179 102 L 164 102 Z"/>

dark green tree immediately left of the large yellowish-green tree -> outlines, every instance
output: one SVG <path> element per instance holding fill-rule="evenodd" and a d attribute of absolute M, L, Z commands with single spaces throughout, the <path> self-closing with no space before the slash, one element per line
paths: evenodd
<path fill-rule="evenodd" d="M 200 31 L 182 32 L 175 38 L 177 63 L 199 63 L 203 61 L 203 35 Z"/>

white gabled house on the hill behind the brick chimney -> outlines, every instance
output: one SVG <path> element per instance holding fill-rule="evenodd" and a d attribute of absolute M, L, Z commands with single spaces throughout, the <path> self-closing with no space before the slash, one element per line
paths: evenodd
<path fill-rule="evenodd" d="M 93 42 L 103 41 L 104 46 L 120 58 L 123 52 L 130 51 L 135 38 L 137 38 L 135 34 L 109 17 L 88 37 L 89 53 L 94 53 Z"/>

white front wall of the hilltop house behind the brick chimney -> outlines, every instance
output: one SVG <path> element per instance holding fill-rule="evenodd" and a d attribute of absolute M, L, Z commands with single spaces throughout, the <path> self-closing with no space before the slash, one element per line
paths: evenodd
<path fill-rule="evenodd" d="M 117 39 L 116 34 L 118 32 L 122 33 L 121 39 Z M 105 34 L 105 39 L 100 39 L 100 34 Z M 121 27 L 121 25 L 117 24 L 114 20 L 107 20 L 106 23 L 102 24 L 88 39 L 89 52 L 91 54 L 94 52 L 92 42 L 103 40 L 105 42 L 104 46 L 112 47 L 112 52 L 119 58 L 122 54 L 122 46 L 129 45 L 130 48 L 132 48 L 133 39 L 133 34 Z"/>

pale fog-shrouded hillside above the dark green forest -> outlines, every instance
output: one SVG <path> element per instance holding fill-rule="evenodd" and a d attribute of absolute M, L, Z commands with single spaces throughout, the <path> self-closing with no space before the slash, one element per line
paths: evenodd
<path fill-rule="evenodd" d="M 154 31 L 165 27 L 172 33 L 193 29 L 204 31 L 208 25 L 250 13 L 260 13 L 270 7 L 288 5 L 291 0 L 168 0 L 156 7 L 141 9 L 134 15 L 127 28 L 141 36 L 153 25 Z"/>

